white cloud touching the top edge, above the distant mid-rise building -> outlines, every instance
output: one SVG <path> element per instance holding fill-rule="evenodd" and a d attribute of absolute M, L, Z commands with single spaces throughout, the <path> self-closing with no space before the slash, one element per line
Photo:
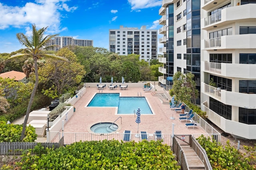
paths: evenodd
<path fill-rule="evenodd" d="M 162 0 L 128 0 L 132 10 L 161 6 Z"/>

